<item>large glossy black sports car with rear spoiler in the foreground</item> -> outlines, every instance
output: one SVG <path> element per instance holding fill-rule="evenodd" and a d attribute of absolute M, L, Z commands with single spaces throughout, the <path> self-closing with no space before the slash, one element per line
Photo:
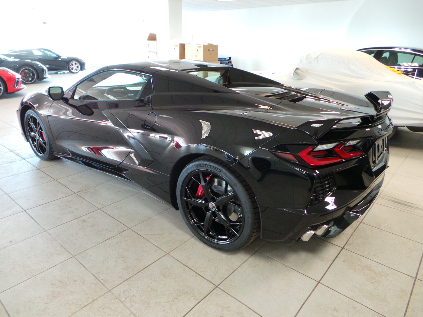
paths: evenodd
<path fill-rule="evenodd" d="M 22 134 L 41 159 L 142 185 L 216 249 L 335 237 L 363 215 L 387 168 L 389 92 L 299 90 L 209 65 L 112 65 L 28 94 Z"/>

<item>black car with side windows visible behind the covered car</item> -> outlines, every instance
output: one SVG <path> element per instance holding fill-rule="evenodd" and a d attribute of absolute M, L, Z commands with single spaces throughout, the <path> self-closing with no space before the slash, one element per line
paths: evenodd
<path fill-rule="evenodd" d="M 368 47 L 358 49 L 379 60 L 386 66 L 401 71 L 415 79 L 423 79 L 423 49 L 406 47 Z"/>

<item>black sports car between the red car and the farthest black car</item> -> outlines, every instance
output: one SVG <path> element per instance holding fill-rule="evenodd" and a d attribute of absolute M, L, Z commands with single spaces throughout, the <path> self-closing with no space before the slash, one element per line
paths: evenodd
<path fill-rule="evenodd" d="M 31 60 L 17 60 L 0 55 L 0 67 L 11 69 L 22 76 L 24 84 L 33 84 L 37 80 L 49 78 L 47 68 L 41 63 Z"/>

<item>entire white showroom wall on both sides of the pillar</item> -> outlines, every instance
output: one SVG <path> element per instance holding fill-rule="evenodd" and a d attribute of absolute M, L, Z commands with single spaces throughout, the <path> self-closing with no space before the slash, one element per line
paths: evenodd
<path fill-rule="evenodd" d="M 0 53 L 45 47 L 64 56 L 81 57 L 88 67 L 143 60 L 148 33 L 157 33 L 164 46 L 180 33 L 169 24 L 169 14 L 180 11 L 180 2 L 3 0 Z M 345 0 L 184 11 L 181 40 L 219 44 L 220 56 L 232 56 L 235 66 L 246 70 L 289 71 L 300 55 L 315 49 L 423 47 L 421 12 L 423 0 Z"/>

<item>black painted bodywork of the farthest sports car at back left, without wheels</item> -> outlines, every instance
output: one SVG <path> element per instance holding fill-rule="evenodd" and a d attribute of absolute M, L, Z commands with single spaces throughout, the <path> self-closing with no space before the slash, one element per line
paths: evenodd
<path fill-rule="evenodd" d="M 46 50 L 46 49 L 43 49 Z M 7 57 L 15 58 L 18 60 L 33 60 L 46 66 L 49 71 L 67 71 L 68 64 L 71 60 L 76 60 L 81 65 L 81 71 L 85 70 L 85 62 L 79 57 L 74 56 L 61 56 L 55 52 L 47 50 L 52 54 L 49 55 L 35 55 L 32 49 L 21 49 L 19 51 L 10 51 L 3 54 Z"/>

